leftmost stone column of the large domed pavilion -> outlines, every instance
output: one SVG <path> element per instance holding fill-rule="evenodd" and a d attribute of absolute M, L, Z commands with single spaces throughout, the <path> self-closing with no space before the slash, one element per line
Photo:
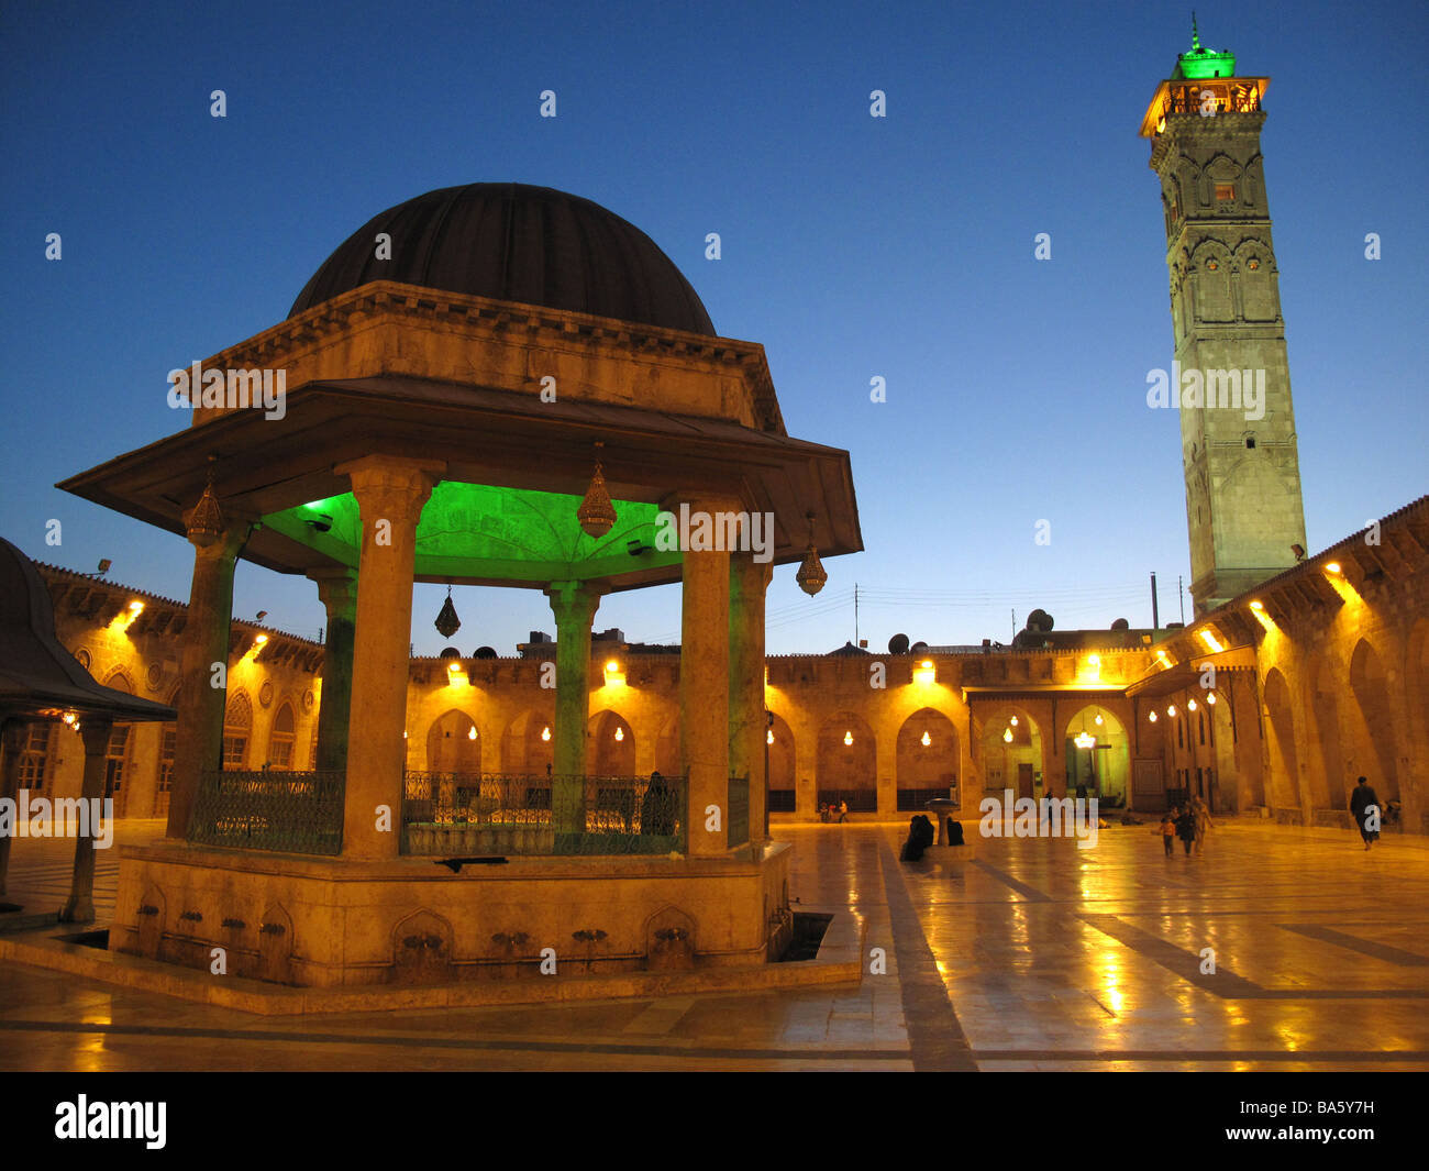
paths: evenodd
<path fill-rule="evenodd" d="M 193 513 L 186 516 L 191 525 Z M 214 686 L 214 663 L 229 666 L 229 622 L 233 618 L 233 568 L 249 539 L 247 520 L 229 525 L 216 538 L 193 528 L 193 585 L 179 652 L 179 719 L 174 774 L 169 792 L 169 838 L 189 834 L 199 795 L 199 774 L 223 766 L 223 709 L 227 685 Z"/>

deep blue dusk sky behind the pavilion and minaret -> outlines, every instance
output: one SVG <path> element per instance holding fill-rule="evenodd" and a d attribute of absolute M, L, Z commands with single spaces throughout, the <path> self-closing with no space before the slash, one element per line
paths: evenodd
<path fill-rule="evenodd" d="M 816 599 L 777 572 L 772 652 L 853 638 L 856 582 L 875 649 L 896 631 L 1006 639 L 1035 606 L 1149 625 L 1149 570 L 1175 619 L 1177 417 L 1145 405 L 1172 357 L 1165 233 L 1136 129 L 1189 47 L 1189 3 L 769 7 L 6 6 L 0 535 L 187 599 L 183 539 L 53 483 L 183 426 L 166 372 L 284 317 L 370 216 L 516 180 L 647 232 L 720 333 L 765 345 L 790 433 L 852 452 L 867 550 L 830 559 Z M 1313 550 L 1429 479 L 1425 7 L 1198 14 L 1203 43 L 1273 79 L 1262 144 Z M 444 642 L 442 593 L 417 589 L 419 653 Z M 534 592 L 456 602 L 464 652 L 553 629 Z M 259 609 L 323 625 L 310 583 L 242 565 L 234 613 Z M 609 598 L 596 625 L 674 639 L 679 589 Z"/>

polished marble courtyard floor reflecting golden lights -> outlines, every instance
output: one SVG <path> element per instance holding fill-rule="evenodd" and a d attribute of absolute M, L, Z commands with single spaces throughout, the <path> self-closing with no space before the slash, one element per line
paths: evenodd
<path fill-rule="evenodd" d="M 900 864 L 903 832 L 775 826 L 803 908 L 883 951 L 860 987 L 259 1018 L 0 964 L 0 1068 L 1429 1068 L 1429 841 L 1222 822 L 1165 858 L 1117 826 L 1089 851 L 985 841 L 950 875 Z M 71 849 L 16 841 L 6 898 L 57 905 Z M 101 858 L 101 919 L 114 874 Z"/>

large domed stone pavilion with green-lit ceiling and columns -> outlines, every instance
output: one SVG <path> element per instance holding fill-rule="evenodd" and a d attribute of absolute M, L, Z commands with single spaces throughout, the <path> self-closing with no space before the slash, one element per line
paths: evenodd
<path fill-rule="evenodd" d="M 230 972 L 327 987 L 534 974 L 546 947 L 590 972 L 779 954 L 765 591 L 773 565 L 862 549 L 849 456 L 787 435 L 763 347 L 720 337 L 644 233 L 544 187 L 430 192 L 171 380 L 189 428 L 60 485 L 194 546 L 169 836 L 124 849 L 111 949 L 224 947 Z M 706 539 L 657 540 L 686 510 Z M 740 539 L 756 515 L 772 558 Z M 314 772 L 223 768 L 239 559 L 327 608 Z M 413 582 L 550 599 L 549 774 L 407 772 Z M 587 776 L 592 621 L 664 582 L 684 775 Z"/>

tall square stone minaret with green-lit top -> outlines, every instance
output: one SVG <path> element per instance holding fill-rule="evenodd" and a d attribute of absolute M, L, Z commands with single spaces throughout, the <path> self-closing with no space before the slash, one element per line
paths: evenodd
<path fill-rule="evenodd" d="M 1196 615 L 1295 565 L 1292 546 L 1305 548 L 1260 159 L 1269 84 L 1238 77 L 1233 54 L 1202 49 L 1193 20 L 1192 49 L 1157 87 L 1140 130 L 1166 212 L 1176 340 L 1169 390 L 1180 403 Z"/>

